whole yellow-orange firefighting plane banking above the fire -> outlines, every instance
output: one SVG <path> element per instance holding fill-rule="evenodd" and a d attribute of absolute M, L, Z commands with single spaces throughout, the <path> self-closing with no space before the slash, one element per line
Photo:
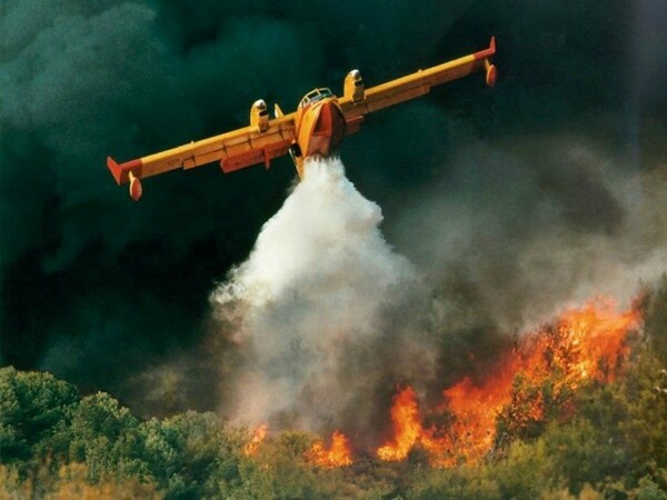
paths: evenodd
<path fill-rule="evenodd" d="M 117 163 L 111 157 L 107 166 L 118 184 L 130 183 L 130 197 L 139 200 L 141 179 L 169 170 L 192 169 L 219 161 L 222 171 L 233 172 L 262 163 L 268 169 L 273 158 L 290 154 L 299 177 L 308 157 L 329 157 L 338 150 L 346 134 L 359 131 L 366 114 L 428 93 L 431 87 L 486 70 L 486 83 L 496 83 L 496 67 L 490 63 L 496 40 L 488 49 L 455 59 L 369 89 L 358 70 L 345 78 L 344 96 L 329 89 L 315 89 L 299 103 L 297 111 L 283 114 L 278 104 L 269 119 L 267 103 L 256 101 L 250 108 L 250 126 L 215 136 L 137 160 Z"/>

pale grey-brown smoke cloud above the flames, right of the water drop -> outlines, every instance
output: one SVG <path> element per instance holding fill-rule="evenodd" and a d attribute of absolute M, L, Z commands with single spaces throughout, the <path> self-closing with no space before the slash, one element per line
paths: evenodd
<path fill-rule="evenodd" d="M 596 294 L 627 306 L 667 271 L 664 163 L 637 172 L 576 134 L 535 134 L 471 142 L 448 172 L 390 231 L 425 272 L 476 290 L 467 306 L 500 331 Z"/>

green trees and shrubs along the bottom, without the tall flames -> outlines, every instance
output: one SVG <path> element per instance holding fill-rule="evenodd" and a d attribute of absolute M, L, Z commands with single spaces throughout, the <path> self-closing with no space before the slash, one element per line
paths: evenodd
<path fill-rule="evenodd" d="M 212 412 L 141 419 L 108 393 L 4 367 L 0 499 L 666 499 L 667 279 L 637 308 L 618 377 L 558 392 L 557 370 L 537 386 L 518 373 L 491 449 L 445 467 L 425 440 L 402 460 L 327 463 L 313 433 L 257 440 Z M 544 411 L 527 414 L 537 396 Z"/>

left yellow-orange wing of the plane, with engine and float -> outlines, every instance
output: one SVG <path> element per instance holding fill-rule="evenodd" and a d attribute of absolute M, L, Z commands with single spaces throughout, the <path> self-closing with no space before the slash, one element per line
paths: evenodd
<path fill-rule="evenodd" d="M 295 113 L 285 114 L 265 120 L 261 126 L 250 124 L 125 163 L 109 157 L 107 167 L 118 184 L 130 183 L 130 196 L 138 200 L 142 193 L 140 179 L 170 170 L 192 169 L 212 161 L 219 161 L 226 173 L 257 163 L 268 169 L 273 158 L 289 152 L 295 128 Z"/>

